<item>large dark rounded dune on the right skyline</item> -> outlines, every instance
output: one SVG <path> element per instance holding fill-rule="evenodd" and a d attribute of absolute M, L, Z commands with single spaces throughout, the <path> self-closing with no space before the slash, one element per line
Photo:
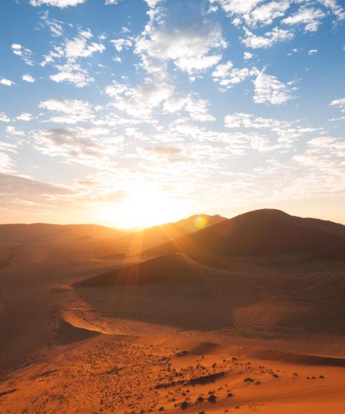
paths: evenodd
<path fill-rule="evenodd" d="M 255 210 L 144 251 L 144 255 L 213 254 L 245 256 L 311 253 L 345 258 L 345 226 L 288 215 L 280 210 Z"/>

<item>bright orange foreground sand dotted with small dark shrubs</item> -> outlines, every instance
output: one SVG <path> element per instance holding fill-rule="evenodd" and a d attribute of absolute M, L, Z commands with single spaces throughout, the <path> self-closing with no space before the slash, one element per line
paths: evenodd
<path fill-rule="evenodd" d="M 132 414 L 344 411 L 344 368 L 256 353 L 177 339 L 99 335 L 0 383 L 0 408 Z"/>

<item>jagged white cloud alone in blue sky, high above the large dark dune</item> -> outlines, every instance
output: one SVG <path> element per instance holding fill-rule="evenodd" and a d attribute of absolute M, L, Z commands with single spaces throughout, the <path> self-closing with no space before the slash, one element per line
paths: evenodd
<path fill-rule="evenodd" d="M 253 83 L 253 100 L 255 103 L 272 103 L 273 105 L 279 105 L 285 103 L 289 99 L 293 99 L 288 86 L 279 81 L 277 77 L 266 75 L 264 71 L 258 72 Z"/>

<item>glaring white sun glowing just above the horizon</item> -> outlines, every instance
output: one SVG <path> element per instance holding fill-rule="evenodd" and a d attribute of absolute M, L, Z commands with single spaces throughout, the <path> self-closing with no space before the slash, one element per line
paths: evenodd
<path fill-rule="evenodd" d="M 176 221 L 181 214 L 181 204 L 153 184 L 134 188 L 124 201 L 103 211 L 103 217 L 108 216 L 115 226 L 121 228 L 164 224 Z"/>

